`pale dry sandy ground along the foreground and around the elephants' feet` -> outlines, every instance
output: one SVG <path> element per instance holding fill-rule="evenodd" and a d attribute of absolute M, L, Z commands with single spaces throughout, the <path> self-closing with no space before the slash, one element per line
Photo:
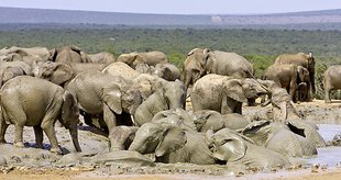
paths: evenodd
<path fill-rule="evenodd" d="M 322 124 L 341 124 L 341 102 L 324 104 L 323 101 L 314 101 L 309 103 L 297 104 L 298 110 L 305 114 L 306 120 Z M 263 111 L 261 106 L 245 106 L 243 113 L 251 116 Z M 108 153 L 108 140 L 106 137 L 91 133 L 88 127 L 81 127 L 79 131 L 79 142 L 82 154 L 94 156 L 98 153 Z M 56 127 L 57 138 L 65 151 L 75 151 L 70 142 L 69 134 L 63 127 Z M 341 132 L 340 132 L 341 133 Z M 334 167 L 294 167 L 286 170 L 268 170 L 263 172 L 248 171 L 246 173 L 221 170 L 223 167 L 196 167 L 178 166 L 178 168 L 158 167 L 152 170 L 131 168 L 123 169 L 107 165 L 82 164 L 63 165 L 56 167 L 61 156 L 51 154 L 48 150 L 48 140 L 44 139 L 45 149 L 33 148 L 34 135 L 31 127 L 24 130 L 25 148 L 15 148 L 12 146 L 13 127 L 10 126 L 6 135 L 9 144 L 0 145 L 0 165 L 1 157 L 8 159 L 8 166 L 0 166 L 0 179 L 340 179 L 341 165 Z M 341 157 L 336 157 L 340 158 Z M 182 168 L 184 167 L 184 168 Z"/>

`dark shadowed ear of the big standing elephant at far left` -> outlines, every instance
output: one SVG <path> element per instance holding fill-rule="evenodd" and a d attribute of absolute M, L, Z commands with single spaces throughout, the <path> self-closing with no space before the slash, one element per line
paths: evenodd
<path fill-rule="evenodd" d="M 75 97 L 69 91 L 64 92 L 63 101 L 61 122 L 65 128 L 69 128 L 70 125 L 78 124 L 77 122 L 72 121 L 78 121 L 79 109 Z"/>

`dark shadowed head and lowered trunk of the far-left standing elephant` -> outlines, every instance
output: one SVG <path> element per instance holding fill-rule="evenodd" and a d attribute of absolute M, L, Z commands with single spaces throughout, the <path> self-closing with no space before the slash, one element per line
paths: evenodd
<path fill-rule="evenodd" d="M 76 99 L 70 92 L 65 91 L 63 94 L 63 100 L 64 102 L 62 106 L 62 115 L 59 117 L 59 122 L 65 128 L 69 130 L 76 150 L 81 151 L 78 142 L 77 128 L 77 125 L 79 123 L 79 109 L 77 106 Z"/>

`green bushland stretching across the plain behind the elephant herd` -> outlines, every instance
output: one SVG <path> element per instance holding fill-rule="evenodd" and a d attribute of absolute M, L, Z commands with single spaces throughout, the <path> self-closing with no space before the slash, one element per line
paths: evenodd
<path fill-rule="evenodd" d="M 279 54 L 312 52 L 319 77 L 326 67 L 341 64 L 340 34 L 340 31 L 249 29 L 29 29 L 0 31 L 0 47 L 52 48 L 73 44 L 89 54 L 106 50 L 116 56 L 129 52 L 162 50 L 180 69 L 189 50 L 208 47 L 244 56 L 254 65 L 258 78 Z"/>

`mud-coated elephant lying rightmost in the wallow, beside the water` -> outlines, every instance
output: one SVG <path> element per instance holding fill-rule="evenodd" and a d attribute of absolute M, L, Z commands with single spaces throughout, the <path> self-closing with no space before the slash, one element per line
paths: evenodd
<path fill-rule="evenodd" d="M 253 139 L 256 145 L 264 146 L 287 157 L 317 155 L 317 145 L 308 137 L 309 134 L 304 128 L 290 123 L 287 124 L 271 123 L 264 120 L 256 121 L 249 124 L 241 133 Z M 315 133 L 317 133 L 316 130 Z"/>

